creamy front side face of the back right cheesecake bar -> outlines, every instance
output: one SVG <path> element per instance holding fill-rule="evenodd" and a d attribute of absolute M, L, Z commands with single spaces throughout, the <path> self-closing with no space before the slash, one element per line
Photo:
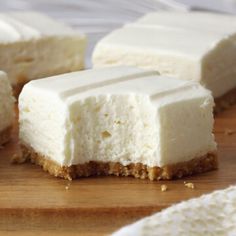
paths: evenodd
<path fill-rule="evenodd" d="M 201 70 L 198 59 L 163 52 L 158 52 L 158 54 L 151 49 L 101 45 L 93 54 L 93 62 L 95 68 L 121 65 L 138 66 L 178 79 L 190 80 L 191 78 L 193 81 L 199 81 Z"/>

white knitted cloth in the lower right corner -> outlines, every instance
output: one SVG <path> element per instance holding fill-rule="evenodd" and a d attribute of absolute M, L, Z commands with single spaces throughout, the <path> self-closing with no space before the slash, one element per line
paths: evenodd
<path fill-rule="evenodd" d="M 173 205 L 113 236 L 236 236 L 236 186 Z"/>

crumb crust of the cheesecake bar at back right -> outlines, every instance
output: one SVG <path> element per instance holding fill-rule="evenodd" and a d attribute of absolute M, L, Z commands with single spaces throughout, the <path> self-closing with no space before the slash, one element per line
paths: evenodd
<path fill-rule="evenodd" d="M 236 88 L 219 98 L 215 98 L 214 113 L 217 115 L 234 104 L 236 104 Z"/>

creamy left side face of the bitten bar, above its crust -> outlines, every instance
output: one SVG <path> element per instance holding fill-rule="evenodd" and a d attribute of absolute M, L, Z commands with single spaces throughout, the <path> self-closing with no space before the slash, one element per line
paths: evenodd
<path fill-rule="evenodd" d="M 66 109 L 63 104 L 54 96 L 42 95 L 37 90 L 28 92 L 26 97 L 21 95 L 19 97 L 21 142 L 45 158 L 63 163 L 66 156 L 67 132 Z"/>

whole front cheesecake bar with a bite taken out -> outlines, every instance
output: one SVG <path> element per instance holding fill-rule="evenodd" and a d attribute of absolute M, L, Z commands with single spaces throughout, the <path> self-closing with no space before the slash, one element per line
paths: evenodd
<path fill-rule="evenodd" d="M 133 67 L 31 81 L 19 98 L 23 158 L 66 179 L 201 173 L 217 167 L 212 107 L 198 83 Z"/>

